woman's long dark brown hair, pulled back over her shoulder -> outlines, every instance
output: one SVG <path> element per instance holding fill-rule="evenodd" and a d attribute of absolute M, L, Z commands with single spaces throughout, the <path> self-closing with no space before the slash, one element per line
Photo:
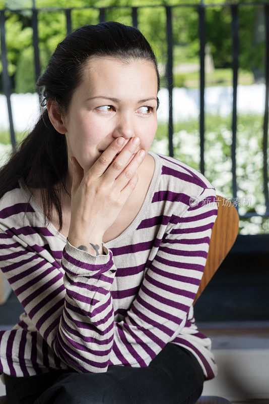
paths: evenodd
<path fill-rule="evenodd" d="M 71 99 L 82 83 L 85 64 L 91 56 L 111 56 L 122 61 L 145 59 L 153 63 L 160 89 L 160 77 L 154 52 L 137 29 L 115 21 L 84 25 L 67 35 L 55 48 L 45 72 L 38 78 L 36 88 L 44 87 L 41 102 L 42 114 L 34 129 L 15 149 L 9 161 L 0 169 L 0 198 L 23 178 L 31 188 L 40 188 L 46 218 L 51 219 L 52 204 L 62 228 L 60 192 L 66 192 L 68 150 L 64 134 L 55 130 L 46 108 L 53 100 L 60 114 L 68 114 Z M 157 97 L 157 109 L 159 99 Z M 30 200 L 30 199 L 29 199 Z M 29 203 L 28 200 L 28 203 Z"/>

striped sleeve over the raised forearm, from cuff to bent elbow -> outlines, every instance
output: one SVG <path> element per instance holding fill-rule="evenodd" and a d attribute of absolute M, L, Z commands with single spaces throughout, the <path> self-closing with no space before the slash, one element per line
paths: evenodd
<path fill-rule="evenodd" d="M 53 348 L 59 358 L 79 372 L 105 372 L 113 345 L 110 288 L 116 268 L 111 256 L 108 261 L 106 254 L 90 258 L 87 252 L 75 248 L 66 245 L 63 250 L 66 294 Z"/>

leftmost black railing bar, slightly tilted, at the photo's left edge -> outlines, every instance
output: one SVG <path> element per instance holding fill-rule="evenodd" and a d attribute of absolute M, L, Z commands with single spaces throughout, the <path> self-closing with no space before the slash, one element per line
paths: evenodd
<path fill-rule="evenodd" d="M 12 149 L 16 147 L 16 139 L 13 126 L 12 109 L 11 109 L 11 80 L 8 73 L 8 59 L 7 59 L 7 47 L 6 47 L 6 35 L 5 35 L 5 11 L 0 11 L 0 38 L 1 38 L 1 60 L 2 60 L 2 83 L 3 89 L 7 97 L 9 121 L 10 121 L 10 137 Z"/>

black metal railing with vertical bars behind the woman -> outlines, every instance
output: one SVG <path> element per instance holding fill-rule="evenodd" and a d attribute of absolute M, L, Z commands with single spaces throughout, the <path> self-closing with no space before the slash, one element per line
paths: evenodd
<path fill-rule="evenodd" d="M 154 6 L 111 6 L 106 8 L 98 8 L 94 6 L 86 7 L 72 7 L 72 8 L 40 8 L 35 7 L 33 0 L 33 7 L 28 9 L 3 9 L 0 11 L 0 30 L 1 30 L 1 53 L 2 53 L 2 80 L 3 88 L 7 97 L 8 113 L 10 121 L 10 133 L 11 133 L 11 143 L 14 148 L 16 145 L 13 119 L 12 119 L 12 109 L 11 109 L 11 80 L 8 74 L 8 62 L 7 62 L 7 48 L 5 40 L 5 11 L 12 13 L 20 13 L 22 11 L 30 10 L 32 12 L 32 29 L 33 29 L 33 47 L 34 47 L 34 63 L 35 63 L 35 76 L 36 80 L 40 75 L 40 56 L 39 56 L 39 40 L 38 40 L 38 13 L 44 11 L 62 11 L 65 13 L 66 18 L 66 33 L 72 31 L 72 10 L 81 9 L 95 9 L 99 10 L 99 21 L 105 21 L 105 11 L 107 9 L 130 9 L 132 16 L 132 25 L 134 27 L 138 26 L 138 9 L 142 8 L 154 8 L 163 7 L 166 11 L 166 38 L 167 38 L 167 87 L 169 93 L 169 119 L 168 119 L 168 134 L 169 134 L 169 156 L 173 157 L 173 38 L 172 38 L 172 8 L 178 7 L 191 7 L 196 9 L 198 13 L 198 36 L 200 43 L 200 115 L 199 115 L 199 129 L 200 129 L 200 172 L 204 174 L 205 172 L 205 45 L 206 45 L 206 20 L 205 20 L 205 9 L 207 7 L 228 7 L 231 10 L 231 40 L 232 40 L 232 69 L 233 69 L 233 107 L 232 107 L 232 144 L 231 144 L 231 160 L 232 160 L 232 194 L 233 198 L 237 195 L 237 183 L 236 183 L 236 130 L 237 130 L 237 81 L 238 81 L 238 56 L 239 56 L 239 40 L 238 40 L 238 8 L 240 6 L 263 6 L 264 16 L 265 16 L 265 100 L 264 100 L 264 118 L 263 118 L 263 194 L 265 200 L 266 211 L 264 214 L 257 214 L 255 212 L 246 213 L 244 215 L 239 215 L 240 218 L 249 218 L 252 216 L 269 217 L 269 195 L 268 195 L 268 167 L 267 167 L 267 132 L 268 132 L 268 95 L 269 95 L 269 3 L 245 3 L 240 2 L 237 4 L 180 4 L 180 5 L 154 5 Z M 40 89 L 38 89 L 39 98 L 41 97 Z M 238 207 L 235 206 L 238 211 Z"/>

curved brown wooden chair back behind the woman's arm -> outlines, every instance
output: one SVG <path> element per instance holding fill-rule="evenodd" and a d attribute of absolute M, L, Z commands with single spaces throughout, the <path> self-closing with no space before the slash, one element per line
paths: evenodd
<path fill-rule="evenodd" d="M 229 199 L 217 195 L 217 207 L 218 216 L 212 228 L 206 267 L 193 306 L 227 256 L 238 235 L 239 216 L 234 205 Z"/>

